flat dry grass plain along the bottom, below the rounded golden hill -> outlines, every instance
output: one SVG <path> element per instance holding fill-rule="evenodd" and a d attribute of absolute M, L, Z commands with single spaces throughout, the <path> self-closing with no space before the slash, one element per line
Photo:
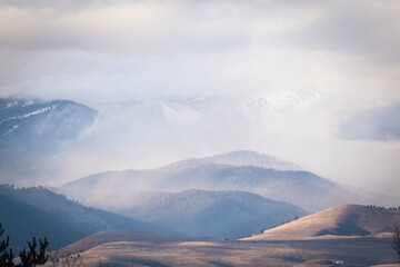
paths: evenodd
<path fill-rule="evenodd" d="M 63 250 L 63 255 L 68 255 L 68 251 Z M 73 260 L 82 266 L 161 267 L 371 266 L 397 263 L 390 239 L 373 237 L 284 241 L 138 238 L 137 241 L 102 243 L 83 251 L 74 251 L 70 254 L 69 261 Z M 63 263 L 59 266 L 68 266 L 66 260 Z"/>

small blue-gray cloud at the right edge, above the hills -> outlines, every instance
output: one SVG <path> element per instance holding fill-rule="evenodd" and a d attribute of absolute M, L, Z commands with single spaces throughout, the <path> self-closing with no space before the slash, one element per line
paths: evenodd
<path fill-rule="evenodd" d="M 400 103 L 358 113 L 340 125 L 340 136 L 377 141 L 400 140 Z"/>

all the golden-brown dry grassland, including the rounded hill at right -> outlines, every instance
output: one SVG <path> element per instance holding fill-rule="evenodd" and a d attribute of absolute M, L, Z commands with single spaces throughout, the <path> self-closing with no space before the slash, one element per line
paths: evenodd
<path fill-rule="evenodd" d="M 104 231 L 60 250 L 58 266 L 398 266 L 398 215 L 342 205 L 241 240 Z"/>

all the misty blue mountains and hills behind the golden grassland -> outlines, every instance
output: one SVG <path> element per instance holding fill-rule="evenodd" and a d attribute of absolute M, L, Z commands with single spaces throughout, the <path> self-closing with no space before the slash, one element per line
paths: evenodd
<path fill-rule="evenodd" d="M 160 154 L 173 152 L 173 139 L 190 149 L 203 138 L 198 136 L 199 126 L 218 132 L 224 127 L 221 118 L 257 118 L 252 112 L 264 112 L 269 107 L 261 99 L 237 102 L 234 116 L 223 113 L 221 123 L 210 123 L 207 118 L 222 112 L 224 105 L 232 107 L 218 98 L 152 98 L 88 106 L 66 100 L 0 99 L 1 181 L 17 186 L 68 181 L 51 189 L 63 195 L 46 188 L 1 187 L 1 212 L 9 218 L 4 224 L 12 225 L 21 217 L 24 225 L 20 227 L 29 228 L 34 221 L 24 215 L 38 214 L 73 233 L 53 236 L 61 244 L 122 228 L 238 238 L 336 205 L 383 201 L 379 195 L 367 198 L 296 164 L 250 150 L 156 168 L 126 168 L 146 157 L 140 151 L 154 155 L 151 146 Z M 212 140 L 217 139 L 223 142 L 224 137 Z M 41 221 L 44 229 L 52 229 Z M 19 236 L 14 228 L 10 230 L 19 244 L 27 239 L 27 233 Z"/>

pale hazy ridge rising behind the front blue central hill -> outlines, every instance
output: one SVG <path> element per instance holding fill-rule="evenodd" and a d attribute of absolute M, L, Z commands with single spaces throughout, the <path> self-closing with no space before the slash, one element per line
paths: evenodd
<path fill-rule="evenodd" d="M 71 198 L 94 206 L 107 205 L 102 199 L 114 195 L 120 196 L 120 202 L 123 202 L 123 196 L 138 191 L 189 189 L 249 191 L 293 204 L 309 211 L 344 202 L 369 202 L 364 197 L 308 171 L 250 166 L 248 164 L 251 162 L 247 159 L 242 160 L 243 166 L 240 166 L 238 155 L 256 155 L 256 158 L 266 159 L 264 156 L 250 151 L 231 152 L 206 159 L 182 160 L 157 169 L 107 171 L 66 184 L 60 190 Z M 230 157 L 233 160 L 230 160 Z M 214 164 L 212 160 L 233 162 L 237 166 Z M 274 159 L 270 162 L 277 165 Z M 291 166 L 278 162 L 281 168 Z"/>

